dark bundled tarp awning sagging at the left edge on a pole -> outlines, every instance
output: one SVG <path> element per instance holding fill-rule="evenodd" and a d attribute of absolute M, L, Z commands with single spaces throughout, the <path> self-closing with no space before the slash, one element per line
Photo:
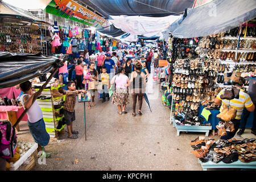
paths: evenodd
<path fill-rule="evenodd" d="M 53 56 L 0 52 L 0 89 L 15 86 L 62 65 L 61 60 Z"/>

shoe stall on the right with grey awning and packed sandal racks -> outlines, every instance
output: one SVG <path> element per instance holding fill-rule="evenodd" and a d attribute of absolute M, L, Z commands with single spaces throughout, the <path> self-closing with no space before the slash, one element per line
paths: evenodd
<path fill-rule="evenodd" d="M 176 106 L 175 112 L 171 112 L 171 122 L 174 127 L 210 125 L 213 136 L 217 129 L 218 136 L 224 137 L 227 131 L 235 131 L 230 120 L 236 117 L 237 110 L 226 105 L 220 113 L 214 98 L 221 90 L 223 100 L 239 98 L 240 90 L 234 87 L 234 82 L 248 73 L 255 75 L 256 15 L 255 2 L 250 0 L 243 3 L 216 0 L 214 5 L 218 10 L 215 16 L 209 14 L 208 6 L 201 6 L 188 10 L 170 26 L 174 65 L 172 105 Z M 230 12 L 239 12 L 239 16 L 227 15 L 227 7 Z M 247 92 L 248 86 L 246 81 L 242 89 Z M 246 127 L 252 125 L 253 113 Z M 204 170 L 256 168 L 255 138 L 214 140 L 207 136 L 190 143 L 192 154 Z"/>

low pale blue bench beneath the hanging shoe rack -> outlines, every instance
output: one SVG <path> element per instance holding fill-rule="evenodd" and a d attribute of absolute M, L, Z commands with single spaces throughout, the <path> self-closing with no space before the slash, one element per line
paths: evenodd
<path fill-rule="evenodd" d="M 173 126 L 176 127 L 177 136 L 180 135 L 181 131 L 185 132 L 202 132 L 205 133 L 205 137 L 209 136 L 209 131 L 212 130 L 212 126 L 185 126 L 185 125 L 177 125 L 175 122 L 175 118 L 172 117 Z"/>

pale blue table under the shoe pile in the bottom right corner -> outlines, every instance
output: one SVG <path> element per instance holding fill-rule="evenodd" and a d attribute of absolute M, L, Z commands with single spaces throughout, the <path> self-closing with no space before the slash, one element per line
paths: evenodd
<path fill-rule="evenodd" d="M 204 171 L 207 171 L 209 168 L 245 168 L 245 169 L 256 169 L 256 162 L 250 162 L 250 163 L 243 163 L 240 160 L 237 160 L 236 162 L 226 164 L 224 162 L 219 163 L 213 163 L 212 161 L 208 161 L 206 163 L 201 162 L 201 160 L 198 159 L 199 164 L 201 164 L 201 167 Z"/>

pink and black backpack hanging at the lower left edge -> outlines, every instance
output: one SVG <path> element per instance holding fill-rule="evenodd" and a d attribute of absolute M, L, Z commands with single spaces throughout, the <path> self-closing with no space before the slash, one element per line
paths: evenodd
<path fill-rule="evenodd" d="M 14 157 L 17 147 L 17 134 L 10 121 L 0 122 L 0 156 L 5 159 Z"/>

